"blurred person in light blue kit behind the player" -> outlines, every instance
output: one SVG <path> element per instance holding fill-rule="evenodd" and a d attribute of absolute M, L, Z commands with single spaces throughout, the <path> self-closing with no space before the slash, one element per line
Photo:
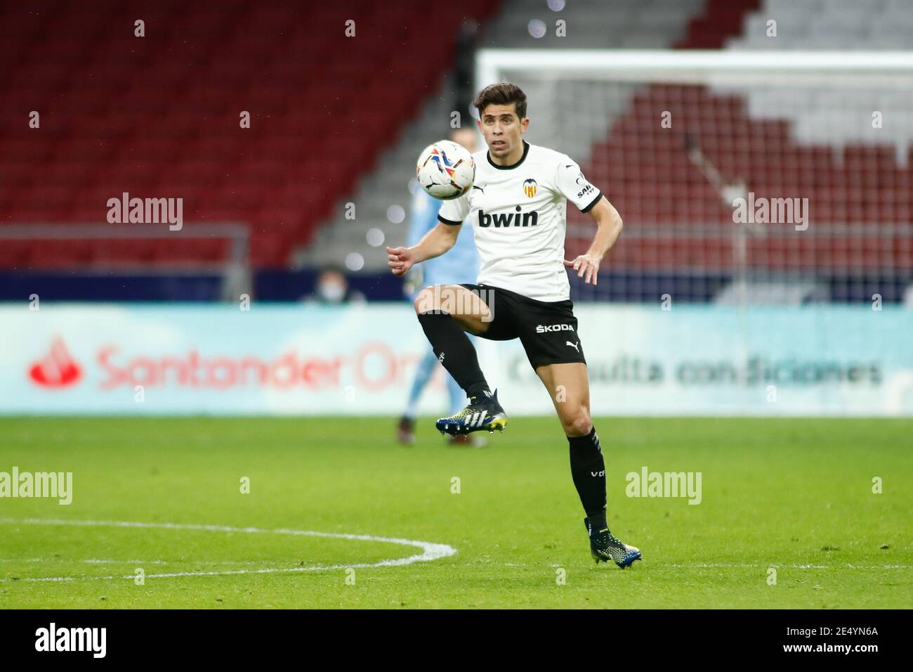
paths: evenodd
<path fill-rule="evenodd" d="M 456 144 L 462 144 L 470 153 L 477 151 L 477 134 L 472 129 L 458 128 L 450 134 L 450 139 Z M 421 187 L 415 189 L 412 210 L 409 214 L 409 233 L 406 245 L 415 245 L 419 240 L 422 240 L 425 233 L 437 226 L 437 211 L 440 209 L 440 205 L 441 202 L 434 197 L 428 196 L 425 193 L 425 189 Z M 419 290 L 428 285 L 475 283 L 478 264 L 478 252 L 476 251 L 476 242 L 473 240 L 472 227 L 463 227 L 452 250 L 436 259 L 425 261 L 425 263 L 419 267 L 414 267 L 406 274 L 404 293 L 411 302 L 415 301 L 415 296 Z M 475 341 L 475 336 L 470 334 L 467 334 L 467 336 Z M 410 444 L 415 442 L 415 415 L 417 413 L 418 400 L 437 368 L 443 367 L 437 361 L 434 350 L 428 347 L 425 357 L 422 357 L 418 363 L 418 368 L 415 369 L 415 379 L 413 380 L 412 389 L 409 391 L 409 400 L 396 430 L 396 437 L 400 443 Z M 450 398 L 450 408 L 454 412 L 459 411 L 463 408 L 466 394 L 446 370 L 444 371 L 444 376 L 446 378 L 447 394 Z M 451 445 L 469 444 L 482 446 L 485 445 L 486 439 L 480 435 L 475 435 L 472 438 L 469 435 L 451 436 L 448 438 L 448 443 Z"/>

